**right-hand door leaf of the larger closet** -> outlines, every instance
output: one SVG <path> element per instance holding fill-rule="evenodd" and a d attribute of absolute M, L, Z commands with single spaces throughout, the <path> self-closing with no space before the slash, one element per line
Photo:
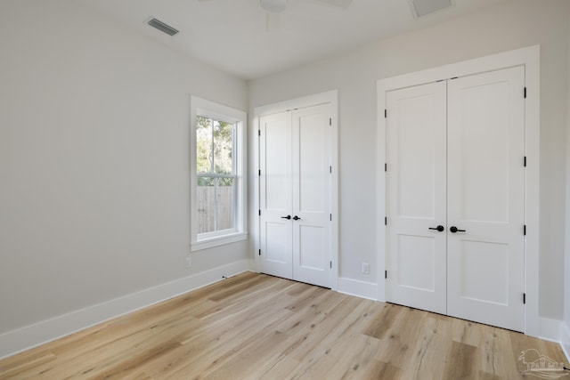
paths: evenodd
<path fill-rule="evenodd" d="M 525 69 L 448 82 L 448 314 L 524 329 Z"/>

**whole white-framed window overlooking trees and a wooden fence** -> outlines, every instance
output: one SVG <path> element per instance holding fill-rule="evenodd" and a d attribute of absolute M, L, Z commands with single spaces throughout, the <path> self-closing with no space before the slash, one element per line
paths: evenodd
<path fill-rule="evenodd" d="M 191 97 L 192 251 L 246 239 L 246 114 Z"/>

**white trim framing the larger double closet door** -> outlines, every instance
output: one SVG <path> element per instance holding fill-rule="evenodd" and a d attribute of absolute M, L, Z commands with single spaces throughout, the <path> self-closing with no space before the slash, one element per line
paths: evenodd
<path fill-rule="evenodd" d="M 378 162 L 377 162 L 377 226 L 378 226 L 378 272 L 386 271 L 386 93 L 412 85 L 421 85 L 452 77 L 506 69 L 514 66 L 525 67 L 525 334 L 540 336 L 539 314 L 539 236 L 540 236 L 540 46 L 534 45 L 506 53 L 498 53 L 483 58 L 461 61 L 434 69 L 380 79 L 378 91 Z M 386 283 L 384 276 L 378 280 L 378 300 L 385 301 Z"/>

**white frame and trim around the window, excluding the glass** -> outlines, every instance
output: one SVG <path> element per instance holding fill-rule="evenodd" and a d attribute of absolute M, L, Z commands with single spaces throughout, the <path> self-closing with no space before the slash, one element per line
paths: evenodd
<path fill-rule="evenodd" d="M 198 233 L 198 173 L 196 170 L 197 117 L 209 117 L 234 125 L 232 166 L 234 177 L 233 228 L 212 232 Z M 248 239 L 247 231 L 247 147 L 245 139 L 247 114 L 239 109 L 232 109 L 215 101 L 208 101 L 191 96 L 191 251 L 218 247 Z M 204 174 L 201 174 L 204 175 Z M 208 175 L 211 176 L 211 175 Z"/>

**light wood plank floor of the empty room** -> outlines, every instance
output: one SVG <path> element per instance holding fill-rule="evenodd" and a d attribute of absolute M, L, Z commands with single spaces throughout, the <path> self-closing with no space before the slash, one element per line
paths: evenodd
<path fill-rule="evenodd" d="M 512 331 L 244 273 L 0 360 L 0 378 L 517 379 L 527 349 L 566 361 Z"/>

